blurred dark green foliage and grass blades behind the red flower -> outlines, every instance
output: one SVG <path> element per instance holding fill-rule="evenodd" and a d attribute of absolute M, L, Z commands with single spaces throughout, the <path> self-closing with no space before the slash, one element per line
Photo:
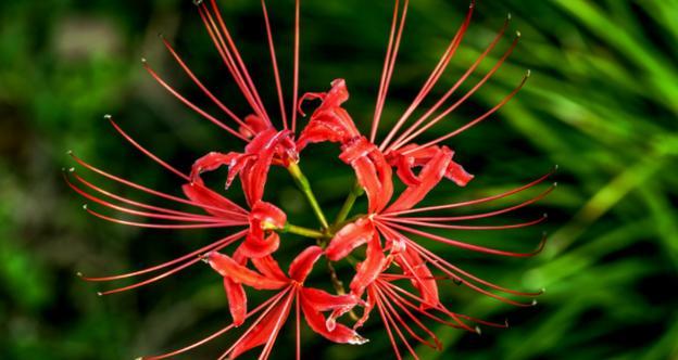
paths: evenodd
<path fill-rule="evenodd" d="M 260 89 L 271 100 L 269 108 L 276 108 L 259 2 L 222 2 Z M 293 2 L 271 2 L 284 81 L 290 83 Z M 391 7 L 390 1 L 303 1 L 301 91 L 325 91 L 334 78 L 346 78 L 352 97 L 347 107 L 365 130 Z M 385 126 L 413 99 L 466 9 L 466 1 L 412 1 Z M 545 286 L 548 292 L 538 307 L 516 309 L 447 286 L 453 310 L 498 321 L 508 318 L 512 326 L 487 329 L 482 336 L 437 329 L 444 351 L 423 349 L 422 357 L 676 359 L 678 1 L 480 1 L 436 93 L 468 67 L 508 12 L 511 29 L 523 34 L 510 62 L 427 137 L 450 131 L 493 106 L 527 68 L 532 77 L 492 119 L 448 142 L 476 179 L 466 189 L 445 183 L 427 201 L 498 193 L 558 164 L 557 191 L 528 210 L 548 211 L 545 226 L 453 235 L 501 248 L 527 248 L 545 230 L 550 242 L 540 256 L 527 260 L 427 244 L 500 284 Z M 143 231 L 102 222 L 80 210 L 83 200 L 61 178 L 61 168 L 74 165 L 65 154 L 72 149 L 113 173 L 179 193 L 177 179 L 136 153 L 102 120 L 106 113 L 180 169 L 208 151 L 240 146 L 146 74 L 141 56 L 189 98 L 204 98 L 164 51 L 156 37 L 161 31 L 227 104 L 244 113 L 191 1 L 0 2 L 1 359 L 131 359 L 187 345 L 229 321 L 221 281 L 203 266 L 103 298 L 96 292 L 105 284 L 75 277 L 76 271 L 108 274 L 161 262 L 221 234 Z M 492 66 L 511 37 L 482 63 L 465 90 Z M 323 206 L 336 210 L 353 181 L 351 170 L 327 166 L 337 162 L 335 146 L 313 149 L 313 158 L 306 155 L 302 167 Z M 266 196 L 282 204 L 296 222 L 312 226 L 305 203 L 284 173 L 275 170 L 271 183 L 276 191 Z M 507 215 L 495 223 L 525 216 Z M 286 246 L 286 254 L 299 248 Z M 376 316 L 364 335 L 372 343 L 360 348 L 305 336 L 304 349 L 312 353 L 306 358 L 390 357 Z M 280 336 L 276 359 L 291 356 L 292 338 L 291 331 Z M 210 359 L 227 344 L 224 337 L 185 358 Z"/>

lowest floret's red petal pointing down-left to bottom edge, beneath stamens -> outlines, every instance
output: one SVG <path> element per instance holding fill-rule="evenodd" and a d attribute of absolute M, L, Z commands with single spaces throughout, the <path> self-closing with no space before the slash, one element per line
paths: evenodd
<path fill-rule="evenodd" d="M 292 305 L 290 296 L 292 296 L 292 294 L 286 296 L 282 301 L 276 305 L 262 321 L 252 329 L 252 331 L 238 340 L 230 352 L 229 359 L 236 359 L 243 352 L 268 343 L 272 334 L 278 332 L 285 321 L 287 321 Z M 271 340 L 275 340 L 275 338 Z"/>

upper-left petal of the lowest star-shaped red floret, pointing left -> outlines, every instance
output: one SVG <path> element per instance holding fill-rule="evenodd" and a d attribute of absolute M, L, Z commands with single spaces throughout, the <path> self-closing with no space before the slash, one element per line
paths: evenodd
<path fill-rule="evenodd" d="M 222 277 L 256 290 L 278 290 L 288 284 L 285 281 L 263 277 L 217 252 L 208 254 L 208 261 Z"/>

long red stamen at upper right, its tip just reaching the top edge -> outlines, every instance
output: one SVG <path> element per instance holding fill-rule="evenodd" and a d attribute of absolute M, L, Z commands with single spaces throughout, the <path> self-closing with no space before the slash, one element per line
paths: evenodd
<path fill-rule="evenodd" d="M 462 23 L 460 28 L 454 34 L 454 37 L 450 41 L 448 49 L 440 57 L 440 61 L 438 62 L 438 64 L 436 65 L 431 74 L 429 75 L 428 79 L 426 80 L 426 82 L 424 82 L 424 86 L 419 90 L 419 93 L 414 99 L 412 104 L 410 104 L 410 106 L 403 113 L 400 119 L 398 119 L 395 125 L 391 128 L 386 139 L 384 139 L 384 141 L 379 145 L 379 150 L 384 151 L 386 149 L 386 146 L 389 144 L 391 139 L 395 136 L 395 133 L 398 133 L 398 130 L 400 130 L 400 128 L 405 124 L 407 118 L 410 118 L 412 113 L 414 113 L 414 111 L 419 106 L 422 101 L 424 101 L 424 99 L 434 88 L 436 82 L 438 82 L 438 79 L 440 78 L 440 76 L 442 76 L 442 74 L 444 73 L 444 69 L 447 68 L 448 64 L 450 63 L 450 61 L 456 53 L 456 49 L 461 44 L 462 39 L 464 38 L 464 35 L 466 34 L 466 29 L 468 28 L 468 25 L 470 24 L 470 18 L 473 16 L 474 8 L 475 8 L 475 0 L 473 0 L 470 4 L 468 5 L 468 11 L 466 13 L 466 17 L 464 18 L 464 22 Z"/>

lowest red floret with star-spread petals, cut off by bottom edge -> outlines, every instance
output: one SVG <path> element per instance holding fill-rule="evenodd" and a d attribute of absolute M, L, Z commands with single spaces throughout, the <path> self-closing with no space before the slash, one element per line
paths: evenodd
<path fill-rule="evenodd" d="M 332 323 L 331 329 L 327 326 L 327 320 L 323 316 L 323 312 L 327 311 L 341 311 L 346 308 L 351 308 L 360 303 L 360 299 L 353 295 L 331 295 L 325 291 L 305 287 L 304 281 L 313 270 L 313 266 L 323 255 L 323 248 L 319 246 L 310 246 L 294 258 L 290 263 L 288 274 L 278 266 L 278 262 L 272 257 L 264 257 L 259 259 L 252 259 L 252 265 L 256 269 L 250 270 L 244 266 L 244 258 L 239 260 L 230 258 L 226 255 L 211 252 L 205 256 L 205 260 L 210 266 L 224 277 L 224 281 L 227 287 L 229 284 L 243 284 L 255 290 L 265 291 L 274 290 L 278 291 L 277 295 L 274 295 L 268 301 L 264 303 L 255 310 L 246 313 L 247 298 L 244 293 L 238 296 L 229 297 L 231 312 L 238 312 L 238 319 L 234 319 L 234 324 L 210 335 L 209 337 L 185 347 L 183 349 L 154 357 L 145 357 L 142 359 L 164 359 L 172 357 L 187 350 L 202 345 L 216 336 L 223 335 L 235 326 L 241 324 L 244 320 L 253 317 L 255 313 L 265 310 L 256 320 L 250 324 L 248 330 L 228 348 L 219 359 L 228 357 L 235 359 L 248 350 L 255 347 L 263 346 L 264 349 L 261 352 L 260 359 L 267 359 L 271 355 L 273 345 L 276 340 L 280 329 L 287 321 L 290 310 L 292 309 L 292 303 L 296 305 L 296 325 L 297 325 L 297 358 L 300 358 L 301 343 L 300 343 L 300 309 L 303 313 L 303 318 L 306 324 L 317 334 L 323 335 L 327 339 L 340 343 L 362 345 L 367 339 L 360 336 L 355 331 L 350 327 Z M 235 309 L 234 309 L 235 308 Z"/>

